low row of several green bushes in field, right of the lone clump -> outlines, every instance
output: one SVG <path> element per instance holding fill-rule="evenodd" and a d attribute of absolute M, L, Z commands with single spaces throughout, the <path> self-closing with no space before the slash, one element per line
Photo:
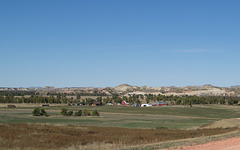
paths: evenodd
<path fill-rule="evenodd" d="M 83 112 L 82 112 L 82 110 L 75 111 L 74 116 L 82 116 L 82 114 L 84 116 L 99 116 L 100 115 L 99 112 L 96 109 L 93 112 L 85 109 Z M 61 109 L 61 115 L 72 116 L 73 115 L 73 111 L 72 110 L 68 111 L 66 108 L 62 108 Z"/>

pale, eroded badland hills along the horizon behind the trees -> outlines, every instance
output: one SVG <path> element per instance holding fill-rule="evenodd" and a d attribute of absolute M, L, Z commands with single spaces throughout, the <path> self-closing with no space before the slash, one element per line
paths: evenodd
<path fill-rule="evenodd" d="M 185 86 L 185 87 L 148 87 L 148 86 L 132 86 L 129 84 L 120 84 L 116 87 L 65 87 L 55 88 L 53 86 L 32 87 L 32 88 L 0 88 L 0 91 L 37 91 L 40 93 L 105 93 L 105 95 L 112 95 L 117 93 L 119 95 L 129 94 L 163 94 L 163 95 L 196 95 L 196 96 L 240 96 L 240 85 L 231 87 L 217 87 L 211 84 L 200 86 Z"/>

